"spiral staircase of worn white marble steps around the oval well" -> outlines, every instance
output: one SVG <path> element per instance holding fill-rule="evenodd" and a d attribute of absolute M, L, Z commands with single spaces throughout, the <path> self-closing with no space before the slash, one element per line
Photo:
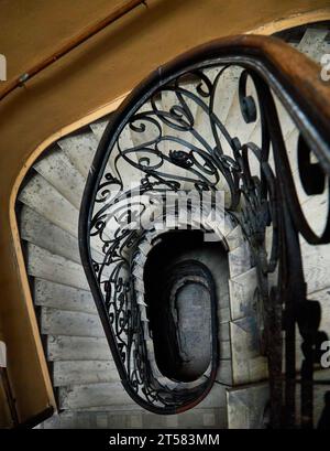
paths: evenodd
<path fill-rule="evenodd" d="M 279 37 L 319 63 L 321 55 L 330 53 L 329 31 L 328 25 L 317 24 L 283 32 Z M 221 79 L 223 96 L 221 101 L 217 103 L 216 99 L 215 110 L 219 117 L 224 118 L 226 129 L 230 130 L 232 136 L 238 136 L 241 142 L 257 142 L 261 135 L 260 120 L 245 124 L 242 127 L 242 120 L 239 119 L 241 112 L 237 86 L 241 72 L 235 66 L 226 72 Z M 210 79 L 215 79 L 218 73 L 219 69 L 217 68 L 209 68 L 207 72 Z M 184 83 L 188 89 L 194 80 L 188 78 Z M 253 92 L 253 87 L 249 87 L 249 89 Z M 173 93 L 164 90 L 156 103 L 160 108 L 169 110 Z M 189 104 L 189 99 L 187 103 Z M 298 130 L 279 100 L 276 100 L 276 107 L 286 146 L 288 149 L 294 149 L 298 140 Z M 189 108 L 194 111 L 197 127 L 202 130 L 204 136 L 208 136 L 210 130 L 204 122 L 200 109 L 193 105 L 193 101 Z M 213 294 L 218 311 L 216 315 L 218 330 L 216 339 L 216 347 L 218 348 L 217 372 L 211 386 L 208 388 L 209 391 L 194 408 L 180 414 L 162 416 L 141 407 L 124 389 L 85 276 L 78 244 L 80 202 L 96 150 L 109 120 L 111 121 L 111 117 L 101 118 L 54 142 L 29 171 L 16 201 L 16 216 L 20 224 L 26 271 L 30 277 L 40 332 L 58 402 L 58 414 L 40 427 L 144 427 L 162 429 L 266 427 L 270 399 L 268 365 L 260 343 L 261 323 L 255 299 L 257 270 L 241 225 L 232 216 L 224 215 L 222 222 L 218 222 L 216 225 L 211 224 L 212 234 L 216 235 L 217 239 L 209 243 L 194 238 L 193 241 L 187 240 L 187 245 L 184 246 L 184 238 L 177 239 L 176 237 L 176 240 L 173 241 L 174 245 L 170 241 L 166 245 L 166 237 L 162 235 L 164 230 L 160 233 L 156 228 L 152 228 L 139 241 L 134 255 L 130 256 L 134 262 L 135 290 L 142 299 L 139 303 L 140 313 L 145 320 L 145 322 L 142 321 L 142 324 L 148 323 L 144 299 L 147 297 L 146 283 L 152 287 L 152 280 L 155 280 L 154 278 L 157 276 L 153 266 L 156 267 L 164 261 L 166 249 L 170 246 L 174 248 L 169 257 L 168 253 L 166 254 L 172 268 L 194 260 L 209 271 L 215 284 Z M 168 132 L 166 127 L 169 126 L 164 125 L 164 133 Z M 172 130 L 172 133 L 174 140 L 175 138 L 179 139 L 179 132 L 175 133 Z M 134 129 L 123 133 L 122 140 L 128 148 L 139 146 L 139 136 L 136 138 L 136 135 Z M 196 144 L 196 141 L 193 138 L 189 144 L 194 146 L 194 143 Z M 179 146 L 176 148 L 172 143 L 170 150 L 173 152 L 179 152 Z M 179 157 L 179 153 L 176 155 Z M 294 152 L 289 158 L 293 174 L 298 180 Z M 138 160 L 135 161 L 138 162 Z M 113 172 L 113 161 L 109 160 L 107 164 Z M 169 163 L 165 164 L 168 165 Z M 256 165 L 256 162 L 254 164 Z M 120 168 L 117 168 L 117 171 L 120 171 Z M 173 172 L 172 169 L 172 175 L 187 179 L 188 171 L 187 167 L 177 164 L 176 172 Z M 132 170 L 132 174 L 125 173 L 125 176 L 127 180 L 134 182 L 133 178 L 136 176 L 136 171 Z M 226 205 L 228 202 L 226 184 L 221 184 L 221 180 L 217 183 L 218 190 L 224 190 L 223 202 Z M 299 185 L 299 181 L 297 182 L 297 191 L 304 212 L 307 212 L 315 228 L 320 230 L 323 226 L 322 212 L 327 207 L 328 193 L 310 198 Z M 102 203 L 97 208 L 101 210 Z M 170 227 L 166 232 L 166 236 L 170 236 Z M 183 232 L 183 234 L 185 233 Z M 271 240 L 272 236 L 270 236 Z M 97 260 L 99 257 L 102 260 L 102 246 L 96 239 L 90 240 L 90 246 L 94 259 Z M 161 254 L 162 246 L 165 254 Z M 329 305 L 327 305 L 327 302 L 329 303 L 329 280 L 327 277 L 327 269 L 330 265 L 329 248 L 327 245 L 310 246 L 301 239 L 301 250 L 304 273 L 308 284 L 308 299 L 316 299 L 321 303 L 321 329 L 329 331 L 330 311 Z M 153 264 L 148 265 L 147 269 L 145 265 L 151 259 Z M 179 268 L 185 272 L 185 265 Z M 110 269 L 105 268 L 103 277 L 109 278 Z M 166 268 L 162 267 L 158 272 L 163 270 L 166 271 Z M 189 311 L 185 312 L 185 297 L 183 296 L 180 313 L 186 314 L 186 321 L 193 323 L 196 318 L 205 313 L 202 322 L 207 329 L 207 325 L 212 321 L 211 309 L 207 307 L 210 305 L 208 303 L 210 301 L 208 296 L 201 294 L 202 291 L 200 291 L 200 287 L 206 286 L 206 276 L 201 270 L 201 272 L 196 271 L 193 276 L 187 271 L 185 272 L 185 277 L 188 279 L 190 277 L 191 280 L 189 279 L 189 281 L 193 281 L 193 287 L 195 287 L 195 291 L 187 292 L 187 297 L 190 300 L 196 297 L 197 301 L 200 301 L 206 296 L 206 303 L 202 308 L 196 307 L 197 310 L 191 314 Z M 148 276 L 145 276 L 146 272 Z M 273 277 L 275 276 L 276 270 Z M 165 279 L 170 279 L 170 277 L 169 273 Z M 160 280 L 160 283 L 164 283 L 160 286 L 160 291 L 166 291 L 166 280 L 163 282 L 162 278 Z M 155 290 L 157 290 L 157 283 L 151 288 L 151 296 Z M 156 312 L 155 321 L 157 321 Z M 179 321 L 177 320 L 176 327 L 179 325 Z M 195 321 L 195 325 L 202 329 L 198 321 Z M 201 336 L 201 345 L 209 345 L 208 334 L 210 332 Z M 198 355 L 200 351 L 198 343 L 188 343 L 187 346 L 189 352 L 191 352 L 191 346 L 193 348 L 195 346 L 195 354 Z M 151 341 L 146 343 L 146 347 L 148 350 L 152 347 Z M 182 386 L 189 387 L 189 389 L 196 388 L 194 380 L 175 382 L 173 378 L 164 376 L 164 372 L 160 372 L 157 368 L 155 353 L 156 350 L 151 350 L 153 355 L 151 361 L 155 372 L 158 372 L 160 380 L 166 387 L 170 389 L 179 389 Z M 297 361 L 299 353 L 297 345 Z M 164 365 L 166 367 L 166 364 Z M 211 364 L 201 366 L 198 380 L 207 380 L 212 372 Z M 324 378 L 324 374 L 327 372 L 319 372 L 318 377 Z M 320 399 L 323 393 L 322 386 L 316 390 L 316 395 Z M 320 417 L 322 407 L 320 401 L 319 407 L 315 410 L 316 421 Z"/>

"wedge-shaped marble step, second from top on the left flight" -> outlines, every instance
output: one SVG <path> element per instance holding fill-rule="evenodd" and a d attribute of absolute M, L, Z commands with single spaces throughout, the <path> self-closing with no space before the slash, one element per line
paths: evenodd
<path fill-rule="evenodd" d="M 97 137 L 89 129 L 84 129 L 57 141 L 61 149 L 85 179 L 87 179 L 98 142 Z"/>

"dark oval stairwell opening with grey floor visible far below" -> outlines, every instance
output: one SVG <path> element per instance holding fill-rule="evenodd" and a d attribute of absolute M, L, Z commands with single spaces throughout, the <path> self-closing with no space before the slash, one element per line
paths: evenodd
<path fill-rule="evenodd" d="M 205 243 L 200 230 L 163 234 L 148 254 L 144 287 L 150 329 L 157 366 L 170 379 L 201 377 L 218 346 L 219 256 L 227 260 L 221 243 Z"/>

